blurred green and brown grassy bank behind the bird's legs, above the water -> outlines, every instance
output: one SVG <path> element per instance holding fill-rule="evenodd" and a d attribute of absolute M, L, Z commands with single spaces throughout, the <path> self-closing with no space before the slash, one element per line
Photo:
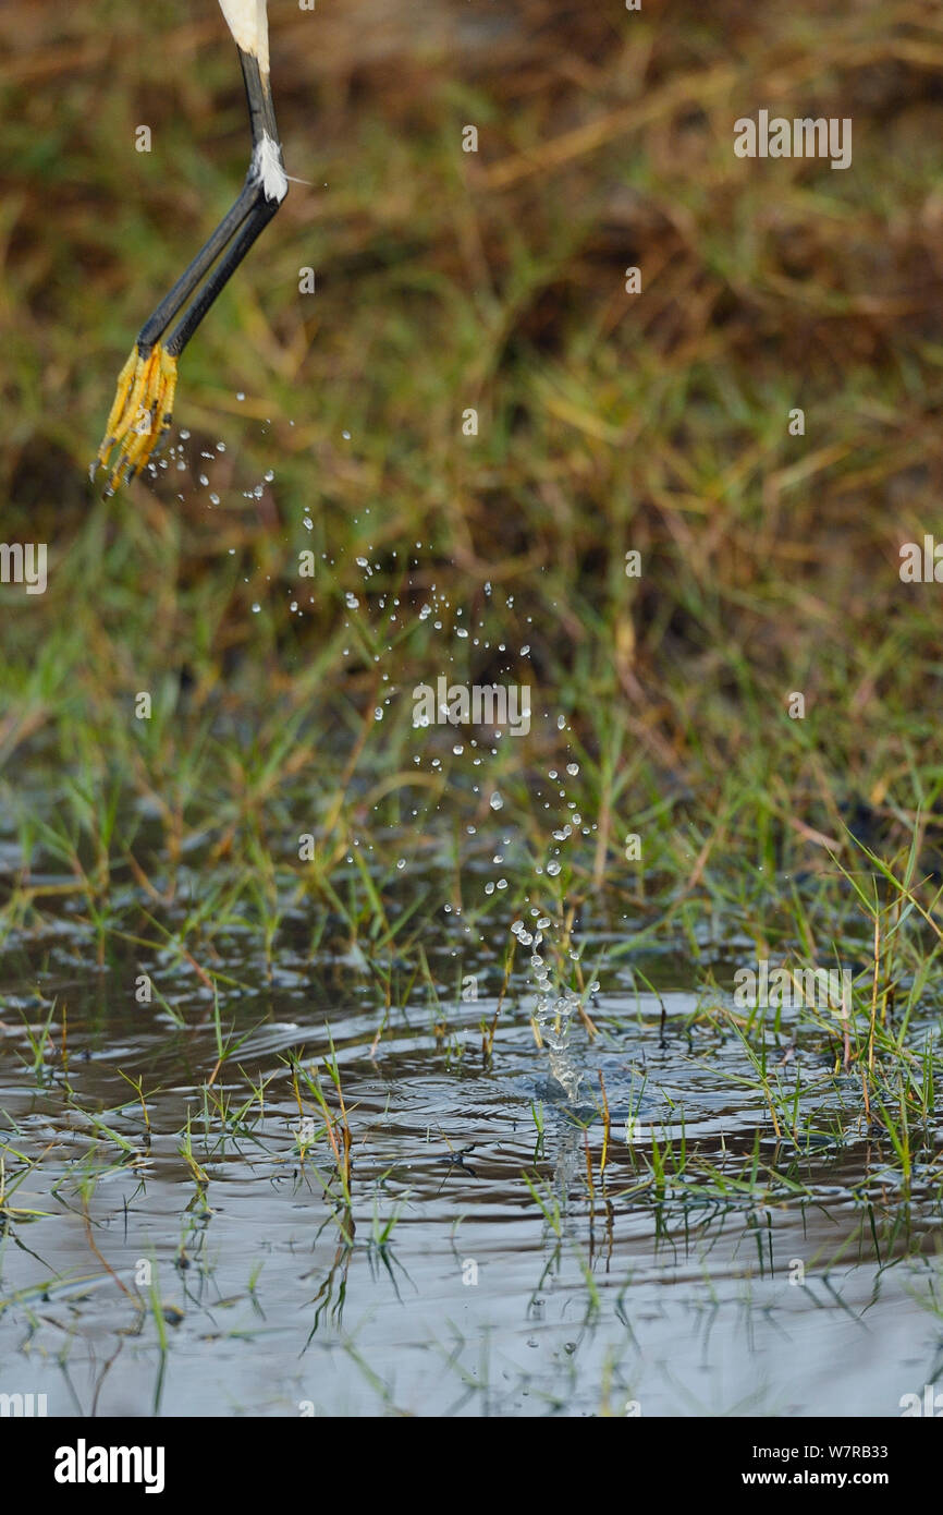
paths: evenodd
<path fill-rule="evenodd" d="M 170 467 L 110 501 L 86 470 L 118 367 L 245 171 L 238 59 L 210 0 L 0 12 L 2 535 L 50 548 L 45 595 L 0 588 L 26 853 L 68 791 L 83 868 L 82 826 L 101 864 L 130 798 L 171 857 L 212 832 L 262 867 L 301 785 L 339 864 L 416 824 L 410 691 L 439 673 L 533 685 L 493 771 L 534 838 L 569 720 L 596 824 L 571 886 L 640 897 L 640 815 L 687 888 L 722 857 L 764 889 L 828 870 L 846 820 L 893 848 L 920 811 L 935 853 L 940 588 L 898 553 L 943 536 L 938 8 L 269 12 L 310 183 L 185 353 Z M 851 117 L 852 167 L 737 159 L 760 108 Z M 422 824 L 453 741 L 424 748 Z"/>

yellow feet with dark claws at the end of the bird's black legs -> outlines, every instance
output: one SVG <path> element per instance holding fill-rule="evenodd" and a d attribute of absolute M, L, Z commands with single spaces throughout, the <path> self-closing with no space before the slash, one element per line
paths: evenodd
<path fill-rule="evenodd" d="M 177 388 L 177 359 L 167 347 L 151 347 L 142 356 L 132 348 L 118 376 L 118 391 L 107 418 L 104 439 L 91 468 L 110 471 L 106 494 L 135 479 L 168 430 Z"/>

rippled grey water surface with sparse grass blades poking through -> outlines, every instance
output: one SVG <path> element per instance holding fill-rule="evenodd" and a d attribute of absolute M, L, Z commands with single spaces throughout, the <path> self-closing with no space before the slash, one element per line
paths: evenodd
<path fill-rule="evenodd" d="M 602 971 L 599 1035 L 580 1023 L 569 1038 L 574 1106 L 534 1044 L 527 974 L 487 1059 L 493 998 L 415 997 L 380 1030 L 351 961 L 285 947 L 265 983 L 235 939 L 216 968 L 265 988 L 221 991 L 224 1035 L 247 1036 L 212 1083 L 226 1121 L 203 1092 L 218 1062 L 207 989 L 179 973 L 179 1026 L 135 1003 L 130 957 L 94 992 L 79 957 L 58 936 L 6 959 L 0 1391 L 42 1392 L 50 1415 L 898 1415 L 940 1376 L 938 1203 L 920 1177 L 902 1192 L 854 1089 L 813 1051 L 789 1080 L 816 1136 L 799 1154 L 778 1145 L 763 1098 L 736 1082 L 749 1073 L 736 1039 L 687 1029 L 683 957 L 657 965 L 664 1026 L 654 995 Z M 36 1059 L 27 1029 L 41 1035 L 53 995 Z M 325 1142 L 300 1160 L 283 1060 L 322 1059 L 325 1021 L 353 1224 L 324 1195 Z M 144 1083 L 150 1133 L 123 1073 Z M 188 1121 L 204 1183 L 182 1154 Z M 751 1186 L 757 1130 L 780 1180 Z M 652 1185 L 652 1139 L 681 1136 L 684 1182 Z"/>

